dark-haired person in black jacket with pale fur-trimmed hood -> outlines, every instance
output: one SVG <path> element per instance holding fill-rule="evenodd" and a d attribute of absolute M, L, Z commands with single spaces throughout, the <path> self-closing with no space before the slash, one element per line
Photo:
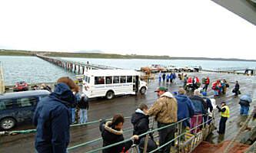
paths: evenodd
<path fill-rule="evenodd" d="M 105 122 L 105 120 L 101 121 L 99 129 L 101 131 L 101 136 L 103 139 L 103 146 L 108 146 L 111 144 L 115 144 L 117 142 L 122 142 L 125 140 L 123 136 L 122 126 L 125 122 L 125 118 L 121 114 L 116 114 L 113 116 L 112 121 Z M 135 138 L 138 140 L 138 135 L 133 135 L 131 138 Z M 102 150 L 103 153 L 120 153 L 121 151 L 128 151 L 131 148 L 132 142 L 124 142 L 120 145 L 115 145 L 111 148 L 106 148 Z"/>

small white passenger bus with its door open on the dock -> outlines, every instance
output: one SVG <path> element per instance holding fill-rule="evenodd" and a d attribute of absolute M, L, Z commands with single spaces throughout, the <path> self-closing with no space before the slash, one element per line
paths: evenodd
<path fill-rule="evenodd" d="M 145 94 L 148 83 L 140 80 L 139 75 L 135 70 L 86 70 L 82 92 L 88 98 L 105 96 L 107 99 L 115 95 Z"/>

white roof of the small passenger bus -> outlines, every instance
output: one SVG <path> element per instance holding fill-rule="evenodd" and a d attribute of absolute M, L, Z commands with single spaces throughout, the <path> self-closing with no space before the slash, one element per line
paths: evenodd
<path fill-rule="evenodd" d="M 138 76 L 136 70 L 86 70 L 85 75 L 103 77 L 103 76 Z"/>

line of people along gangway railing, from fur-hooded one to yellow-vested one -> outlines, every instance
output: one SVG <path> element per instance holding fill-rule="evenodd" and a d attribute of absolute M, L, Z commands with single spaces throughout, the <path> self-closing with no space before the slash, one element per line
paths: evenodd
<path fill-rule="evenodd" d="M 185 132 L 185 129 L 191 129 L 191 133 L 194 134 L 202 128 L 202 126 L 199 125 L 201 125 L 203 122 L 205 124 L 211 124 L 211 121 L 207 122 L 207 120 L 211 119 L 211 112 L 213 111 L 212 103 L 215 106 L 215 101 L 214 99 L 208 99 L 207 93 L 203 92 L 201 94 L 199 90 L 194 90 L 193 96 L 186 96 L 186 91 L 181 88 L 178 90 L 177 96 L 173 96 L 170 92 L 168 92 L 165 86 L 158 87 L 158 90 L 155 92 L 158 94 L 158 99 L 156 102 L 149 109 L 147 105 L 141 103 L 131 117 L 131 123 L 134 126 L 132 138 L 136 139 L 135 144 L 139 145 L 140 151 L 143 151 L 145 136 L 138 138 L 138 135 L 148 132 L 149 116 L 156 117 L 155 119 L 158 122 L 158 129 L 167 126 L 165 129 L 158 130 L 159 146 L 165 145 L 167 142 L 170 142 L 171 139 L 175 138 L 175 132 L 177 129 L 175 125 L 171 124 L 178 122 L 181 119 L 188 118 L 182 122 L 181 133 Z M 224 102 L 221 103 L 221 106 L 222 107 L 219 112 L 221 112 L 221 118 L 223 117 L 223 119 L 220 122 L 221 126 L 218 132 L 223 134 L 225 129 L 225 121 L 227 121 L 230 112 L 228 106 L 224 105 Z M 209 115 L 207 116 L 206 114 L 208 113 Z M 121 119 L 115 119 L 115 116 L 119 116 Z M 113 123 L 117 122 L 115 120 L 118 120 L 119 122 L 115 123 L 115 125 L 123 125 L 125 119 L 120 114 L 115 116 L 113 117 L 112 122 L 101 122 L 100 129 L 104 142 L 103 146 L 111 145 L 124 139 L 123 135 L 119 134 L 119 132 L 122 132 L 121 126 L 117 128 L 113 126 Z M 118 132 L 116 132 L 116 130 Z M 108 133 L 108 135 L 106 133 Z M 121 138 L 116 138 L 117 136 Z M 181 140 L 182 139 L 185 139 L 184 136 L 181 137 Z M 148 139 L 148 146 L 148 151 L 152 151 L 157 148 L 152 135 Z M 174 142 L 165 145 L 158 151 L 167 153 L 170 151 L 171 146 L 174 146 Z M 103 152 L 125 152 L 130 147 L 131 142 L 126 142 L 121 145 L 105 149 Z"/>

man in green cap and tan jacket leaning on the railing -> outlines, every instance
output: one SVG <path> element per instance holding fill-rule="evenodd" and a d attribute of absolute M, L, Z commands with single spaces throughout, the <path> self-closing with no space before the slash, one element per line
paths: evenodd
<path fill-rule="evenodd" d="M 156 116 L 158 122 L 158 128 L 164 127 L 166 125 L 171 125 L 177 122 L 178 117 L 178 103 L 177 100 L 168 92 L 165 86 L 158 87 L 157 101 L 148 109 L 148 116 Z M 170 142 L 171 139 L 175 138 L 175 125 L 168 126 L 168 128 L 161 129 L 159 133 L 159 145 L 165 145 L 165 143 Z M 174 145 L 174 143 L 172 143 Z M 165 145 L 165 147 L 159 149 L 160 152 L 167 153 L 170 152 L 171 143 Z"/>

